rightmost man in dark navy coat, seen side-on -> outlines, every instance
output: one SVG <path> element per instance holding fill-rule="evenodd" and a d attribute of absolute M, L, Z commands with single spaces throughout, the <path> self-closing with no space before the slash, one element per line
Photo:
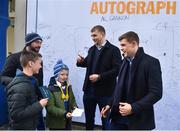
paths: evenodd
<path fill-rule="evenodd" d="M 155 128 L 153 105 L 162 97 L 159 60 L 144 53 L 135 32 L 119 37 L 124 54 L 115 87 L 114 99 L 101 111 L 111 108 L 111 129 L 152 130 Z"/>

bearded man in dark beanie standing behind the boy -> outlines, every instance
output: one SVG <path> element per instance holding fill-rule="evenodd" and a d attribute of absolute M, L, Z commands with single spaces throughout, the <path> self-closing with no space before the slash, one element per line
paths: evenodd
<path fill-rule="evenodd" d="M 29 33 L 25 37 L 25 42 L 26 42 L 25 43 L 26 45 L 23 50 L 39 52 L 41 48 L 41 44 L 42 44 L 42 38 L 37 33 Z M 2 69 L 1 75 L 0 75 L 1 84 L 7 86 L 11 82 L 11 80 L 16 76 L 16 73 L 18 72 L 18 70 L 22 71 L 22 66 L 20 64 L 21 53 L 22 51 L 18 53 L 14 53 L 7 57 L 4 67 Z M 39 70 L 39 73 L 34 74 L 33 76 L 38 80 L 39 86 L 42 86 L 43 85 L 43 69 L 41 68 Z M 40 99 L 41 97 L 40 91 L 37 89 L 36 92 Z M 43 122 L 42 115 L 40 118 L 41 119 L 38 125 L 38 129 L 44 130 L 45 125 Z"/>

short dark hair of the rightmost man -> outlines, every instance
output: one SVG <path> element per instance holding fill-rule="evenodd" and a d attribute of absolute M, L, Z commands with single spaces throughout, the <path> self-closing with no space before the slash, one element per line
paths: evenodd
<path fill-rule="evenodd" d="M 139 36 L 133 31 L 126 32 L 119 37 L 119 41 L 126 39 L 128 42 L 136 41 L 139 45 Z"/>

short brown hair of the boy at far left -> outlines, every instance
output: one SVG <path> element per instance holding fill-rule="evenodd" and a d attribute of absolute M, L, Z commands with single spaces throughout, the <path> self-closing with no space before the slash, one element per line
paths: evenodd
<path fill-rule="evenodd" d="M 41 58 L 40 53 L 34 51 L 23 50 L 20 56 L 20 63 L 22 67 L 26 67 L 29 61 L 35 62 L 38 58 Z"/>

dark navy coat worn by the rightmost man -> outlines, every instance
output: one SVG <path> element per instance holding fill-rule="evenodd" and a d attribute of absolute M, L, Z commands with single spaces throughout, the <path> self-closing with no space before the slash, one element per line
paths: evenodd
<path fill-rule="evenodd" d="M 119 71 L 120 75 L 123 72 L 126 60 L 123 60 Z M 127 95 L 127 103 L 132 106 L 132 115 L 128 116 L 129 129 L 132 130 L 152 130 L 155 128 L 154 109 L 153 105 L 162 97 L 162 76 L 159 60 L 144 53 L 143 48 L 139 48 L 131 65 L 131 86 Z M 114 96 L 122 102 L 122 87 L 116 85 L 118 95 Z M 113 105 L 112 105 L 113 106 Z M 111 117 L 117 115 L 117 112 L 111 112 Z"/>

